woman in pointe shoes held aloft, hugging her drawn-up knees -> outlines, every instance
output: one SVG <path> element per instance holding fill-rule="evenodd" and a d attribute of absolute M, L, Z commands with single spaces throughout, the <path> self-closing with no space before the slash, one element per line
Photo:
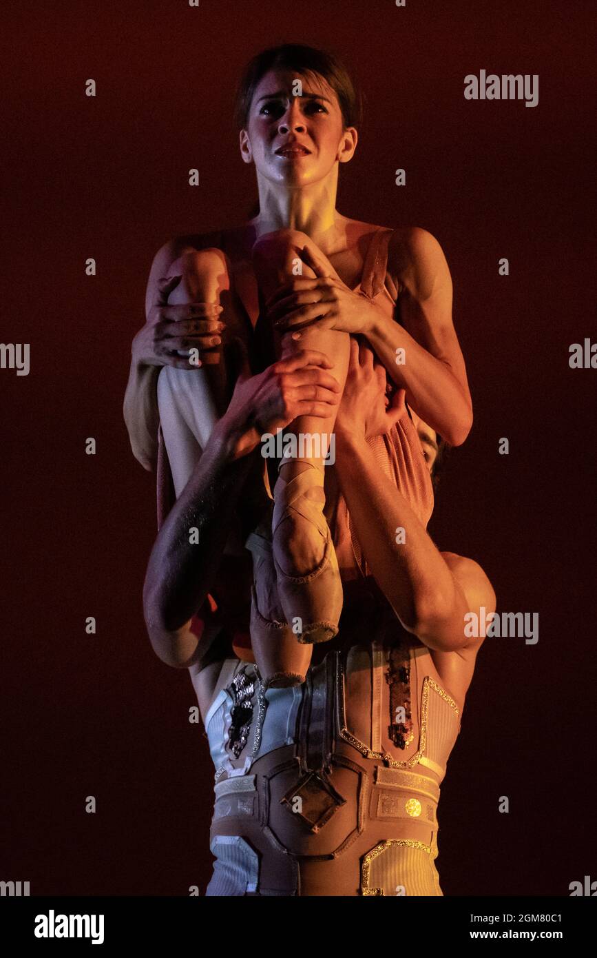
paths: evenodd
<path fill-rule="evenodd" d="M 166 450 L 161 446 L 159 479 L 169 465 L 177 496 L 227 408 L 239 369 L 272 367 L 276 357 L 304 350 L 328 355 L 333 379 L 311 367 L 310 381 L 290 385 L 302 390 L 305 404 L 316 404 L 288 427 L 298 438 L 332 437 L 333 393 L 343 388 L 350 334 L 365 337 L 419 416 L 451 445 L 462 443 L 471 400 L 439 244 L 424 230 L 376 227 L 335 208 L 339 164 L 354 154 L 359 123 L 358 98 L 341 64 L 310 47 L 265 51 L 245 72 L 237 119 L 242 158 L 255 167 L 259 213 L 236 229 L 176 239 L 156 256 L 147 288 L 151 321 L 136 337 L 125 399 L 138 457 L 151 451 L 143 437 L 155 425 L 152 390 L 161 363 L 159 435 Z M 168 305 L 152 313 L 160 291 Z M 186 348 L 196 348 L 188 360 L 181 358 Z M 380 453 L 385 449 L 380 468 L 393 468 L 395 478 L 398 431 L 378 437 Z M 326 641 L 338 631 L 339 530 L 349 531 L 350 521 L 345 508 L 344 523 L 338 518 L 338 496 L 334 511 L 333 496 L 324 493 L 324 481 L 333 487 L 334 479 L 323 461 L 321 447 L 282 457 L 271 483 L 273 515 L 260 515 L 247 539 L 254 553 L 252 645 L 269 684 L 303 681 L 310 654 L 298 642 Z M 269 492 L 267 470 L 264 478 Z M 417 491 L 425 522 L 432 508 L 426 489 Z M 324 505 L 336 520 L 336 548 Z M 344 537 L 358 550 L 352 536 Z M 240 556 L 243 539 L 229 543 L 229 553 L 235 548 Z"/>

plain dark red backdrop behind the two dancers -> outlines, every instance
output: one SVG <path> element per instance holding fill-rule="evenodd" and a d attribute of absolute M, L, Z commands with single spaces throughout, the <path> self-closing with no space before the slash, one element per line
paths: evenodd
<path fill-rule="evenodd" d="M 213 768 L 188 723 L 188 673 L 163 665 L 144 629 L 155 477 L 130 452 L 122 397 L 156 250 L 239 222 L 254 200 L 233 88 L 250 56 L 287 41 L 332 48 L 365 88 L 340 211 L 425 227 L 452 270 L 475 425 L 453 453 L 435 541 L 482 564 L 500 610 L 540 615 L 536 646 L 488 639 L 480 652 L 442 787 L 444 892 L 567 895 L 570 881 L 597 878 L 597 371 L 568 366 L 570 343 L 597 338 L 592 7 L 5 8 L 0 335 L 31 343 L 31 373 L 0 371 L 10 827 L 0 878 L 30 880 L 37 895 L 185 895 L 210 877 Z M 539 105 L 465 101 L 464 76 L 481 68 L 539 74 Z M 87 257 L 96 278 L 84 275 Z M 509 814 L 498 813 L 501 795 Z"/>

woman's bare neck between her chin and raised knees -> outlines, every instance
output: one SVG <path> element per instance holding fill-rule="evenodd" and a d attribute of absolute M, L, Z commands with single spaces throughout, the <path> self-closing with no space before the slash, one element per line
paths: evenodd
<path fill-rule="evenodd" d="M 275 230 L 299 230 L 313 239 L 325 255 L 334 252 L 345 219 L 336 210 L 338 176 L 334 172 L 335 176 L 320 183 L 283 191 L 257 174 L 259 214 L 252 220 L 255 238 Z"/>

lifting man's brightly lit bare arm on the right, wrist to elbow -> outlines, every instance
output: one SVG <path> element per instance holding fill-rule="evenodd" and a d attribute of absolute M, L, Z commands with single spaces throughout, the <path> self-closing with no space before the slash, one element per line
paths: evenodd
<path fill-rule="evenodd" d="M 495 608 L 483 570 L 471 559 L 444 558 L 365 439 L 337 435 L 336 469 L 365 559 L 403 626 L 430 649 L 465 648 L 465 614 Z M 406 532 L 401 544 L 398 527 Z"/>

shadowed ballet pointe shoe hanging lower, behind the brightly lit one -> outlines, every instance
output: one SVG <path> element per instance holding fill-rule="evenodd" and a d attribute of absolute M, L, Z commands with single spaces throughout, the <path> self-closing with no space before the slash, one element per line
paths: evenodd
<path fill-rule="evenodd" d="M 264 687 L 287 689 L 304 682 L 312 649 L 298 645 L 292 627 L 284 621 L 277 596 L 272 541 L 268 536 L 271 536 L 271 523 L 258 527 L 245 543 L 253 554 L 254 568 L 251 647 Z"/>

